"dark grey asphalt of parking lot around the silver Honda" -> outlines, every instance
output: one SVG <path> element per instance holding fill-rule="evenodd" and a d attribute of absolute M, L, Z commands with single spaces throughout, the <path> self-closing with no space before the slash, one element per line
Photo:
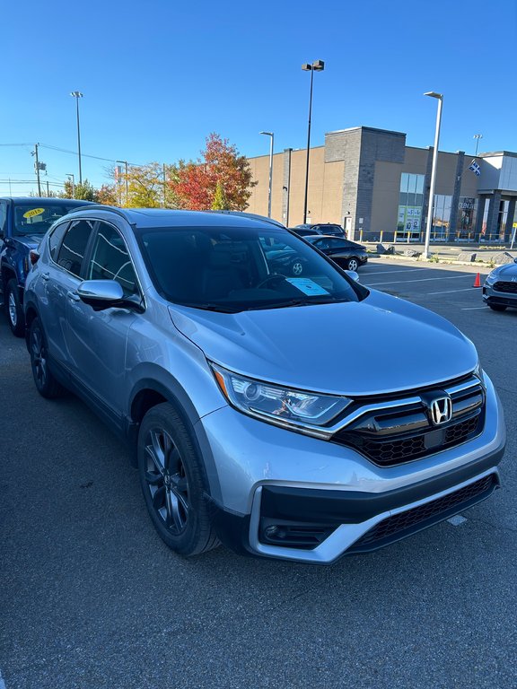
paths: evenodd
<path fill-rule="evenodd" d="M 0 689 L 517 686 L 517 310 L 484 307 L 477 270 L 360 275 L 477 345 L 506 414 L 503 488 L 331 567 L 172 554 L 124 445 L 75 397 L 38 396 L 1 316 Z M 390 366 L 381 343 L 369 365 Z"/>

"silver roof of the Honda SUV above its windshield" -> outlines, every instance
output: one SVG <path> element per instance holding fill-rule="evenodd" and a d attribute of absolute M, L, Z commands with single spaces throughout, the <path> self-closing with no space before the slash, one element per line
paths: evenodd
<path fill-rule="evenodd" d="M 94 205 L 73 211 L 75 217 L 92 215 L 108 219 L 117 214 L 131 225 L 145 227 L 249 227 L 284 230 L 283 225 L 262 216 L 248 214 L 217 213 L 211 211 L 175 211 L 168 208 L 118 208 L 110 205 Z"/>

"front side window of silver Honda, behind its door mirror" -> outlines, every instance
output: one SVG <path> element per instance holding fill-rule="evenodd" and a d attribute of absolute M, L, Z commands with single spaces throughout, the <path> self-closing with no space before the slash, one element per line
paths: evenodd
<path fill-rule="evenodd" d="M 138 292 L 135 269 L 126 244 L 118 231 L 106 222 L 99 223 L 86 279 L 116 280 L 126 296 Z"/>

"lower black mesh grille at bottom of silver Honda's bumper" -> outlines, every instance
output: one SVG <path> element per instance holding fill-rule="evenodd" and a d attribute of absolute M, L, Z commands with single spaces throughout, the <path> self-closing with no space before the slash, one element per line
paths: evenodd
<path fill-rule="evenodd" d="M 349 549 L 349 553 L 374 550 L 388 545 L 410 533 L 432 526 L 438 521 L 451 517 L 461 510 L 466 510 L 479 501 L 487 498 L 497 487 L 495 474 L 480 478 L 473 484 L 460 488 L 459 491 L 444 495 L 442 498 L 425 502 L 423 505 L 399 512 L 387 517 L 361 536 Z"/>

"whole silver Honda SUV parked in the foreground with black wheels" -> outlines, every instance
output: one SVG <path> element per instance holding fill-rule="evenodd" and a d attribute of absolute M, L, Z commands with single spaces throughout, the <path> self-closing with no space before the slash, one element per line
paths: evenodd
<path fill-rule="evenodd" d="M 331 563 L 499 485 L 503 413 L 474 345 L 276 223 L 89 207 L 33 260 L 36 386 L 127 437 L 177 553 Z"/>

